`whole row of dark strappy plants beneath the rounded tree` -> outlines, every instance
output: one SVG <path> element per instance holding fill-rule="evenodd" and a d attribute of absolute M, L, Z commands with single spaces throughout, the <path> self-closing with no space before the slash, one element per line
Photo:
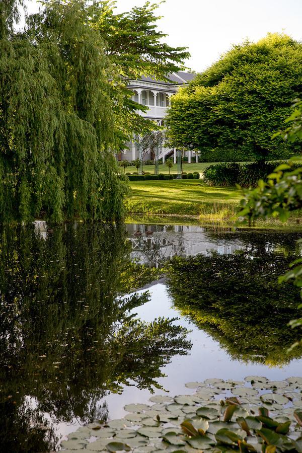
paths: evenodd
<path fill-rule="evenodd" d="M 251 162 L 237 164 L 235 162 L 210 165 L 203 172 L 203 180 L 211 186 L 256 186 L 259 179 L 266 180 L 267 176 L 283 162 Z M 293 165 L 296 167 L 296 165 Z"/>

